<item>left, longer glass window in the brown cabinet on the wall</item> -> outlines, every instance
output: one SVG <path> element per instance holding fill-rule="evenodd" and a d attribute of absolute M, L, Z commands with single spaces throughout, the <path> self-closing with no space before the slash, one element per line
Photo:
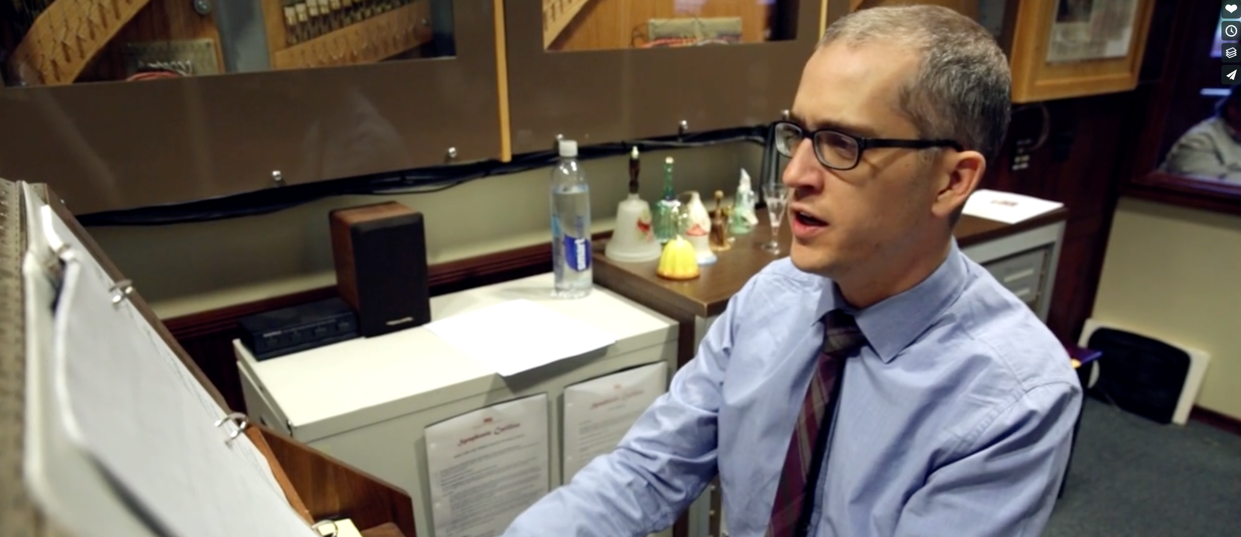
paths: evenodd
<path fill-rule="evenodd" d="M 0 0 L 5 86 L 453 56 L 452 0 Z"/>

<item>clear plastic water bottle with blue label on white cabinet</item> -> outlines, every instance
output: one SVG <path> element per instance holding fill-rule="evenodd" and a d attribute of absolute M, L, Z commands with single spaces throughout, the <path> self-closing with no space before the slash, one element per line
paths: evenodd
<path fill-rule="evenodd" d="M 577 162 L 577 141 L 560 141 L 560 162 L 551 174 L 551 252 L 553 295 L 591 294 L 591 189 Z"/>

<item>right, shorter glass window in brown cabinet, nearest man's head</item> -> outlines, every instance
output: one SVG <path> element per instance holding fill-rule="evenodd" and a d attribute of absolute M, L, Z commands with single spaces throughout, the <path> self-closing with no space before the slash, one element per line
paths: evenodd
<path fill-rule="evenodd" d="M 549 51 L 797 38 L 797 0 L 542 0 L 542 15 Z"/>

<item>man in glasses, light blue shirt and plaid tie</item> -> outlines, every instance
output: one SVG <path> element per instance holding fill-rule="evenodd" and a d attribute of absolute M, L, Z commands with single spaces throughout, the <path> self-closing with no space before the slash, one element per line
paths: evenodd
<path fill-rule="evenodd" d="M 952 239 L 1009 86 L 992 37 L 951 10 L 831 25 L 777 125 L 789 258 L 731 299 L 616 451 L 505 536 L 645 536 L 717 474 L 732 537 L 1037 535 L 1081 387 Z"/>

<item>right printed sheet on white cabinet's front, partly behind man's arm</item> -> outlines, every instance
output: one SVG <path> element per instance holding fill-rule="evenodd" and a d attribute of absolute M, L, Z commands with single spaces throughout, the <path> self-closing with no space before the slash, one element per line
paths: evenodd
<path fill-rule="evenodd" d="M 634 367 L 565 387 L 565 448 L 561 479 L 596 456 L 612 453 L 638 417 L 668 391 L 664 362 Z"/>

